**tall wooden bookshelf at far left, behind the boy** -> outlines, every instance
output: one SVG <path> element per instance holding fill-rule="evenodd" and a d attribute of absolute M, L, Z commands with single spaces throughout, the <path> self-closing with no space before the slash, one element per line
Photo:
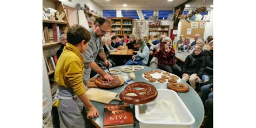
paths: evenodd
<path fill-rule="evenodd" d="M 68 32 L 68 29 L 70 28 L 70 23 L 68 20 L 68 15 L 66 14 L 67 7 L 63 5 L 62 2 L 59 2 L 59 1 L 56 1 L 56 2 L 52 1 L 51 4 L 54 4 L 55 9 L 60 13 L 61 12 L 65 13 L 65 17 L 63 18 L 63 21 L 56 21 L 51 19 L 43 19 L 42 21 L 43 39 L 45 40 L 45 42 L 43 42 L 42 44 L 43 93 L 45 93 L 45 97 L 48 99 L 48 102 L 50 102 L 50 104 L 52 105 L 52 97 L 55 95 L 58 89 L 58 86 L 54 83 L 55 69 L 53 65 L 56 66 L 56 60 L 54 59 L 54 56 L 56 56 L 56 51 L 60 48 L 60 45 L 61 45 L 59 41 L 59 36 L 61 35 L 62 32 L 65 32 L 65 33 Z M 45 5 L 44 8 L 48 8 L 48 6 Z M 49 34 L 50 33 L 49 29 L 52 29 L 51 31 L 53 35 L 53 40 L 50 39 L 51 36 Z M 48 35 L 46 36 L 47 32 L 48 32 Z M 53 58 L 53 60 L 51 60 L 51 57 Z"/>

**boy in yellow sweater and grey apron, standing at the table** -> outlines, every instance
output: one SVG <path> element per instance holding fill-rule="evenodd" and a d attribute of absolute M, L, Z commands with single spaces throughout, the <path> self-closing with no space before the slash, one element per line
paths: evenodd
<path fill-rule="evenodd" d="M 90 42 L 90 32 L 83 26 L 73 25 L 67 33 L 68 43 L 58 59 L 55 82 L 58 85 L 56 98 L 59 99 L 60 127 L 85 127 L 87 118 L 98 117 L 99 112 L 86 96 L 83 83 L 84 57 Z"/>

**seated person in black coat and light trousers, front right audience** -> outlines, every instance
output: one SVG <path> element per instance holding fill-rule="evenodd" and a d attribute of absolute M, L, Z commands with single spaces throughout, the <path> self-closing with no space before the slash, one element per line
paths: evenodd
<path fill-rule="evenodd" d="M 200 45 L 194 47 L 194 52 L 188 55 L 182 66 L 182 79 L 189 80 L 193 89 L 196 89 L 196 83 L 194 80 L 201 81 L 201 76 L 205 70 L 205 58 L 203 55 L 203 48 Z"/>

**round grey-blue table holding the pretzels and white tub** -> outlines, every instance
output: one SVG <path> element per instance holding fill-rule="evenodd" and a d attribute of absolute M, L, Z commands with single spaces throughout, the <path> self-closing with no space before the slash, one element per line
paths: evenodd
<path fill-rule="evenodd" d="M 125 66 L 132 67 L 134 65 L 125 65 Z M 125 67 L 125 66 L 116 66 L 111 69 L 120 70 L 122 67 Z M 135 70 L 134 74 L 136 76 L 136 80 L 134 80 L 134 82 L 147 82 L 147 83 L 150 83 L 150 84 L 156 86 L 157 89 L 167 89 L 166 84 L 151 83 L 142 77 L 142 73 L 144 73 L 145 71 L 150 71 L 150 70 L 159 70 L 159 69 L 152 68 L 149 66 L 144 66 L 143 70 Z M 107 70 L 105 70 L 105 72 L 107 72 Z M 118 76 L 121 76 L 124 79 L 128 79 L 129 73 L 130 72 L 122 72 L 122 73 L 118 74 Z M 95 77 L 97 77 L 97 76 L 98 75 L 96 75 Z M 188 85 L 184 80 L 181 80 L 181 82 L 179 82 L 179 83 Z M 102 90 L 117 92 L 118 94 L 120 94 L 120 92 L 122 92 L 126 86 L 127 86 L 127 84 L 125 83 L 123 86 L 116 87 L 114 89 L 102 89 Z M 204 105 L 203 105 L 203 102 L 201 101 L 201 98 L 198 96 L 198 93 L 196 91 L 194 91 L 194 89 L 190 85 L 188 85 L 188 87 L 190 87 L 190 91 L 177 92 L 177 93 L 178 93 L 179 97 L 181 98 L 181 100 L 183 100 L 184 104 L 187 106 L 187 109 L 190 110 L 190 112 L 196 119 L 196 122 L 193 125 L 191 125 L 190 127 L 191 128 L 199 127 L 204 119 Z M 98 89 L 100 89 L 100 88 L 98 88 Z M 119 97 L 119 95 L 117 97 Z M 91 102 L 93 105 L 95 105 L 96 109 L 98 109 L 98 111 L 99 111 L 99 117 L 97 117 L 95 119 L 91 119 L 91 121 L 93 122 L 93 124 L 98 125 L 99 127 L 103 127 L 104 104 L 98 103 L 98 102 L 93 102 L 93 101 L 91 101 Z M 110 102 L 110 104 L 118 104 L 118 103 L 121 103 L 121 102 L 119 102 L 117 100 L 112 100 L 112 102 Z M 130 104 L 130 107 L 132 109 L 133 117 L 134 117 L 135 125 L 133 127 L 139 127 L 139 122 L 136 119 L 135 113 L 134 113 L 134 104 Z"/>

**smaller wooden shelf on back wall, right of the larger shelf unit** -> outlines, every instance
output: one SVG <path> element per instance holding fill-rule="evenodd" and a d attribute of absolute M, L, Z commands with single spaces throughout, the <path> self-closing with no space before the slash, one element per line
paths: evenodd
<path fill-rule="evenodd" d="M 169 35 L 170 25 L 149 25 L 149 36 L 154 35 L 158 38 L 160 35 Z"/>

